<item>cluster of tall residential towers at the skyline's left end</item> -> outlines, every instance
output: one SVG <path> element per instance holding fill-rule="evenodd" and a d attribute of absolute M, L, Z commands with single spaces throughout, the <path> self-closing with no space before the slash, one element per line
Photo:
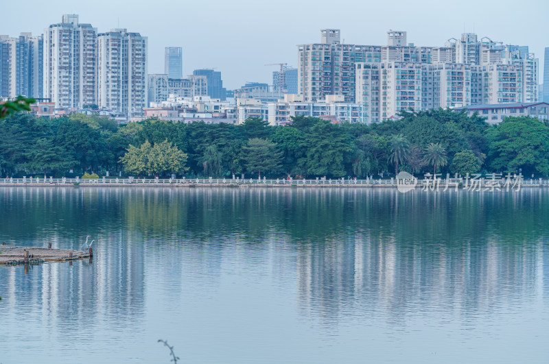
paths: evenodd
<path fill-rule="evenodd" d="M 148 105 L 147 47 L 139 33 L 98 33 L 76 14 L 63 15 L 40 36 L 0 36 L 0 97 L 47 99 L 43 104 L 56 110 L 98 106 L 128 119 L 141 115 Z"/>

